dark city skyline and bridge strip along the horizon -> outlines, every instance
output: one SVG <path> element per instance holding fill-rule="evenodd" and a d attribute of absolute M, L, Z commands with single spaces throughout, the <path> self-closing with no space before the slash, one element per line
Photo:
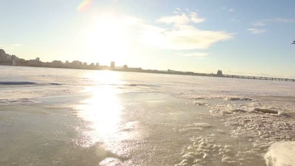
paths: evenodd
<path fill-rule="evenodd" d="M 295 44 L 295 41 L 294 43 Z M 159 74 L 179 74 L 179 75 L 194 75 L 194 76 L 209 76 L 209 77 L 225 77 L 225 78 L 242 78 L 242 79 L 257 79 L 257 80 L 272 80 L 272 81 L 292 81 L 295 79 L 286 78 L 273 78 L 273 77 L 259 77 L 259 76 L 241 76 L 241 75 L 229 75 L 223 74 L 222 70 L 218 70 L 217 74 L 208 73 L 195 73 L 192 71 L 176 71 L 176 70 L 154 70 L 154 69 L 142 69 L 141 67 L 128 67 L 115 66 L 115 62 L 112 61 L 110 66 L 100 66 L 99 63 L 87 64 L 86 62 L 73 61 L 66 63 L 58 60 L 52 62 L 42 62 L 37 57 L 31 60 L 25 60 L 18 58 L 16 55 L 7 54 L 3 49 L 0 49 L 0 65 L 4 66 L 31 66 L 31 67 L 51 67 L 51 68 L 71 68 L 71 69 L 88 69 L 88 70 L 113 70 L 113 71 L 126 71 L 126 72 L 142 72 L 142 73 L 159 73 Z"/>

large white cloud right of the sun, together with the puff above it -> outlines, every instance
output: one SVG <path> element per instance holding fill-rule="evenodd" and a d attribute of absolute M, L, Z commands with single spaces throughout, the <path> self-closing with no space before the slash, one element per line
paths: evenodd
<path fill-rule="evenodd" d="M 156 22 L 172 24 L 171 28 L 161 28 L 139 23 L 141 30 L 140 40 L 150 46 L 167 50 L 195 50 L 208 49 L 214 43 L 228 40 L 232 33 L 224 31 L 203 31 L 191 23 L 199 23 L 204 18 L 197 17 L 196 12 L 182 13 L 181 15 L 160 17 Z"/>

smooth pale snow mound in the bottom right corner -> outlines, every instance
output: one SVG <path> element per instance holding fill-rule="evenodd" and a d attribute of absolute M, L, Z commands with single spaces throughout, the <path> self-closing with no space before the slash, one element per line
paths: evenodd
<path fill-rule="evenodd" d="M 295 166 L 295 141 L 274 143 L 264 158 L 267 166 Z"/>

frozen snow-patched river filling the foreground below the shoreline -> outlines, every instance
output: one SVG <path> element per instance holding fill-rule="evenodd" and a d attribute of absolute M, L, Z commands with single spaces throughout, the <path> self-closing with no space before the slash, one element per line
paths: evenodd
<path fill-rule="evenodd" d="M 294 117 L 293 82 L 0 66 L 1 166 L 294 166 Z"/>

